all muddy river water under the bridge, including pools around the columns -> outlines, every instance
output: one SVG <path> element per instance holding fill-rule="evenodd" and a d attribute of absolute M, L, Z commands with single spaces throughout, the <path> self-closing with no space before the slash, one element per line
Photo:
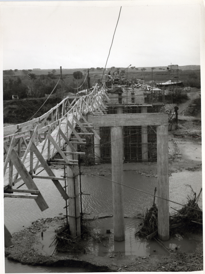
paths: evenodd
<path fill-rule="evenodd" d="M 56 176 L 63 175 L 63 169 L 54 169 L 53 172 Z M 46 176 L 46 172 L 41 172 L 42 176 Z M 83 211 L 85 213 L 92 212 L 94 215 L 112 214 L 112 183 L 107 181 L 110 177 L 102 176 L 101 178 L 96 176 L 81 176 L 83 195 L 82 204 Z M 154 188 L 157 186 L 157 178 L 142 176 L 136 174 L 133 171 L 123 172 L 124 184 L 132 186 L 134 188 L 146 191 L 154 194 Z M 34 200 L 30 199 L 4 199 L 4 222 L 11 233 L 23 229 L 31 225 L 32 221 L 38 218 L 47 218 L 59 216 L 59 214 L 65 214 L 65 201 L 61 197 L 60 193 L 50 180 L 35 179 L 36 185 L 41 191 L 43 197 L 48 203 L 49 208 L 46 211 L 41 212 Z M 64 183 L 63 183 L 64 184 Z M 178 203 L 186 203 L 187 195 L 191 195 L 191 188 L 187 185 L 191 185 L 196 194 L 202 187 L 202 172 L 201 171 L 185 171 L 173 173 L 169 177 L 169 199 Z M 133 218 L 139 213 L 143 213 L 147 208 L 153 204 L 153 196 L 148 194 L 124 187 L 124 213 L 125 218 L 125 235 L 126 239 L 122 243 L 116 243 L 112 237 L 106 243 L 107 247 L 96 244 L 90 246 L 90 251 L 96 255 L 105 256 L 108 253 L 113 254 L 121 252 L 124 255 L 139 255 L 146 256 L 155 253 L 164 254 L 164 250 L 157 246 L 154 241 L 140 241 L 135 239 L 135 231 L 137 225 L 140 223 L 139 219 Z M 202 194 L 198 201 L 199 207 L 202 209 Z M 175 209 L 181 206 L 170 202 L 170 211 L 173 211 L 171 207 Z M 95 229 L 100 229 L 103 233 L 106 233 L 107 229 L 113 232 L 113 218 L 98 219 L 91 223 L 91 226 Z M 112 234 L 113 235 L 113 234 Z M 190 235 L 182 238 L 172 238 L 167 241 L 167 246 L 175 248 L 178 246 L 181 251 L 191 251 L 196 247 L 196 243 Z M 189 250 L 190 249 L 190 250 Z M 59 254 L 61 255 L 61 254 Z M 72 268 L 42 268 L 31 267 L 21 265 L 19 263 L 9 262 L 5 260 L 6 273 L 49 273 L 49 272 L 85 272 L 83 269 Z"/>

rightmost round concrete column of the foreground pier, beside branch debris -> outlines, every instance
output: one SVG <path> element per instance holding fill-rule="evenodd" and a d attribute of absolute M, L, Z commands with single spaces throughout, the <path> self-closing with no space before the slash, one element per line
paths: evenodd
<path fill-rule="evenodd" d="M 157 193 L 169 199 L 168 125 L 157 126 Z M 158 235 L 169 240 L 169 201 L 158 198 Z"/>

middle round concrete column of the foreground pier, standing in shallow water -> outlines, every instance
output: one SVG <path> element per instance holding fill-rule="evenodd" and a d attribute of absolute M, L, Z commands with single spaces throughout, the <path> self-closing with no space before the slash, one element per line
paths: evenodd
<path fill-rule="evenodd" d="M 114 240 L 125 240 L 124 205 L 123 205 L 123 159 L 122 127 L 111 127 L 112 151 L 112 199 L 114 219 Z"/>

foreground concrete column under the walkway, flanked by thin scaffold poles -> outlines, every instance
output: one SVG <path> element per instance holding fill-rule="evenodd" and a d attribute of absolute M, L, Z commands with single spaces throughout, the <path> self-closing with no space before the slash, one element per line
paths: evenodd
<path fill-rule="evenodd" d="M 73 145 L 77 149 L 77 144 Z M 70 151 L 70 147 L 66 146 L 66 151 Z M 77 154 L 68 154 L 68 159 L 77 160 Z M 68 215 L 70 234 L 73 237 L 80 238 L 80 189 L 79 189 L 79 171 L 73 172 L 70 167 L 67 166 L 67 185 L 68 185 Z"/>

